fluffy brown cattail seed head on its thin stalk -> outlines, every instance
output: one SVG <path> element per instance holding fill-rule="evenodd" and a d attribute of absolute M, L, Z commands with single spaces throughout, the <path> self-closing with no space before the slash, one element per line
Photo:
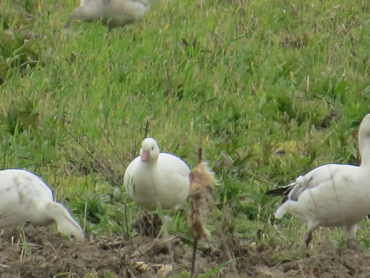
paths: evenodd
<path fill-rule="evenodd" d="M 194 277 L 196 249 L 200 239 L 208 240 L 206 220 L 212 209 L 213 186 L 217 184 L 214 173 L 202 162 L 202 148 L 199 148 L 199 164 L 190 172 L 190 234 L 194 238 L 190 277 Z"/>

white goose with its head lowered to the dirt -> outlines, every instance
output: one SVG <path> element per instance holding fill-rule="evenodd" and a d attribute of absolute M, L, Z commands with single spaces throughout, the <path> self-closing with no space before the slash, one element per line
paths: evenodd
<path fill-rule="evenodd" d="M 80 225 L 62 204 L 54 202 L 53 191 L 40 177 L 21 169 L 0 171 L 0 229 L 53 222 L 61 234 L 84 239 Z"/>

